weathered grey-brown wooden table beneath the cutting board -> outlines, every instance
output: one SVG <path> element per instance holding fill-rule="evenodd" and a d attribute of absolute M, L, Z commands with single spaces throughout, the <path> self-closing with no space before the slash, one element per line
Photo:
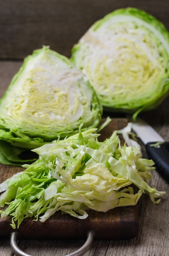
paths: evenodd
<path fill-rule="evenodd" d="M 0 62 L 0 97 L 6 90 L 13 74 L 22 62 Z M 117 115 L 116 115 L 117 117 Z M 169 141 L 169 98 L 156 110 L 142 113 L 143 117 L 160 135 Z M 143 154 L 145 148 L 142 145 Z M 150 202 L 147 195 L 143 195 L 138 203 L 139 233 L 131 240 L 94 240 L 91 249 L 84 256 L 167 256 L 169 254 L 169 184 L 154 171 L 154 180 L 149 182 L 160 191 L 166 191 L 160 204 Z M 76 251 L 84 240 L 20 240 L 19 247 L 27 254 L 59 255 L 63 256 Z M 0 256 L 15 255 L 10 247 L 10 241 L 0 240 Z"/>

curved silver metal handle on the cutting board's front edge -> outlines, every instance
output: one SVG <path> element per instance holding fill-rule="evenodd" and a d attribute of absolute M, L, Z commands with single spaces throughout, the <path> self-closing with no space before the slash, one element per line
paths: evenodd
<path fill-rule="evenodd" d="M 81 256 L 81 255 L 83 255 L 85 252 L 88 251 L 88 249 L 90 249 L 90 247 L 92 245 L 92 242 L 93 242 L 93 238 L 94 238 L 93 231 L 89 231 L 86 242 L 82 245 L 82 247 L 80 247 L 77 251 L 72 252 L 70 254 L 67 254 L 65 256 Z M 18 256 L 32 256 L 31 254 L 27 254 L 27 253 L 23 252 L 18 247 L 16 240 L 17 240 L 17 233 L 12 232 L 11 233 L 10 245 L 11 245 L 11 248 L 12 248 L 13 252 Z"/>

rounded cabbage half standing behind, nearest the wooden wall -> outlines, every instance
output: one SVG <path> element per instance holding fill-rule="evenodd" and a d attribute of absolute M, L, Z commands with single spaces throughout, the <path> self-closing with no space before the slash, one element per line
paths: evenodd
<path fill-rule="evenodd" d="M 118 9 L 95 22 L 73 46 L 71 61 L 105 110 L 136 118 L 169 94 L 169 33 L 142 10 Z"/>

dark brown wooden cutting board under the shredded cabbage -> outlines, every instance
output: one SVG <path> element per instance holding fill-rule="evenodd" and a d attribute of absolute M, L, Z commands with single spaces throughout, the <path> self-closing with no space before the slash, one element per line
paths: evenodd
<path fill-rule="evenodd" d="M 126 125 L 127 119 L 112 119 L 110 124 L 101 131 L 100 141 L 110 137 L 114 130 L 119 130 Z M 121 143 L 123 142 L 121 138 Z M 23 168 L 1 164 L 0 183 L 19 171 L 23 171 Z M 88 218 L 80 220 L 68 214 L 61 214 L 59 211 L 44 223 L 27 218 L 18 230 L 11 228 L 9 216 L 0 218 L 0 238 L 9 238 L 13 231 L 18 232 L 20 239 L 86 238 L 88 231 L 91 230 L 94 231 L 95 239 L 131 239 L 138 234 L 137 206 L 117 207 L 106 213 L 90 210 L 88 214 Z"/>

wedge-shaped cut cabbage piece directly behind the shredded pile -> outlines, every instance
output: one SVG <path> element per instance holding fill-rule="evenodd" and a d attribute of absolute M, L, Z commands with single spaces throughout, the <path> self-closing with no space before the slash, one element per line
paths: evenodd
<path fill-rule="evenodd" d="M 101 115 L 86 76 L 49 47 L 37 49 L 0 100 L 0 162 L 20 165 L 25 149 L 73 135 L 81 124 L 81 130 L 96 127 Z"/>

